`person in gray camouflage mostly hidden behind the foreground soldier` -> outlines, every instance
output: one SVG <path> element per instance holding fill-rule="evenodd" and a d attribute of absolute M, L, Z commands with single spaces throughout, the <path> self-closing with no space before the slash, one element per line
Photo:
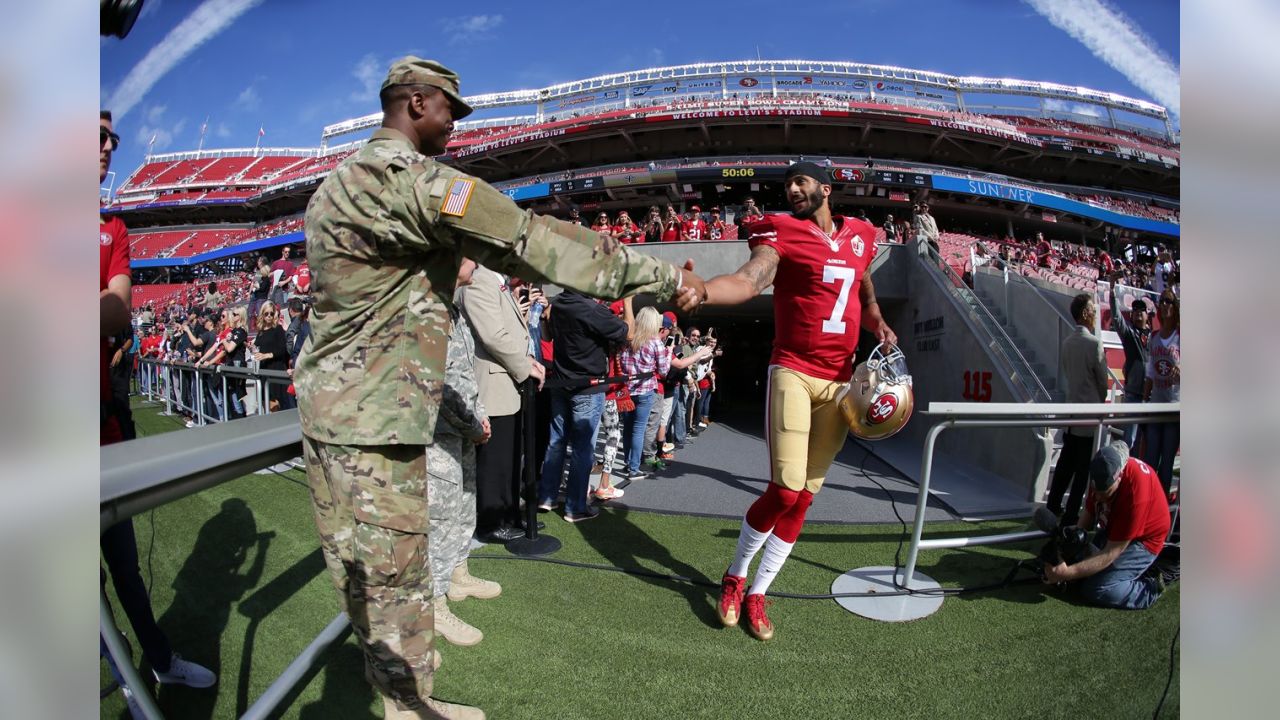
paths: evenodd
<path fill-rule="evenodd" d="M 476 264 L 462 260 L 458 287 L 471 283 Z M 431 514 L 431 589 L 435 594 L 435 634 L 457 646 L 474 646 L 484 633 L 454 615 L 449 600 L 492 598 L 502 587 L 467 570 L 471 534 L 476 529 L 476 445 L 489 441 L 492 429 L 480 401 L 475 373 L 475 340 L 466 316 L 449 310 L 453 333 L 444 368 L 444 395 L 433 443 L 426 446 L 426 496 Z"/>

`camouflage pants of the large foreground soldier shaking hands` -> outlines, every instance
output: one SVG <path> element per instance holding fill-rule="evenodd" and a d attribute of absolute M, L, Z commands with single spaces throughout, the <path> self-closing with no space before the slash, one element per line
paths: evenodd
<path fill-rule="evenodd" d="M 365 653 L 365 678 L 407 710 L 431 696 L 435 612 L 426 448 L 302 437 L 325 564 Z"/>

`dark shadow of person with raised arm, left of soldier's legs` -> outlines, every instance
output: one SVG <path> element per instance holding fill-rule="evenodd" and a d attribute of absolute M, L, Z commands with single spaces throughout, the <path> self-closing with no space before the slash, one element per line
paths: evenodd
<path fill-rule="evenodd" d="M 273 537 L 274 532 L 257 532 L 253 511 L 243 500 L 227 500 L 218 515 L 200 528 L 196 544 L 173 582 L 174 601 L 160 618 L 160 626 L 184 657 L 219 676 L 223 675 L 221 634 L 232 606 L 261 579 Z M 250 553 L 252 561 L 242 571 Z M 212 717 L 218 691 L 160 685 L 157 700 L 172 717 Z"/>

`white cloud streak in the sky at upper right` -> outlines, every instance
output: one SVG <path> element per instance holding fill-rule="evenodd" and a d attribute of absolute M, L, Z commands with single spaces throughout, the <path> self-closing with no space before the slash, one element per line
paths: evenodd
<path fill-rule="evenodd" d="M 1024 0 L 1174 115 L 1181 105 L 1178 67 L 1142 29 L 1102 0 Z"/>

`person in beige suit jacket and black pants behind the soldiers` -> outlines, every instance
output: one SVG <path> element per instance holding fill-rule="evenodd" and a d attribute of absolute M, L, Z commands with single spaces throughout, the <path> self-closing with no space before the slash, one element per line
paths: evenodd
<path fill-rule="evenodd" d="M 504 281 L 476 268 L 454 299 L 476 340 L 476 380 L 493 437 L 476 452 L 476 537 L 504 543 L 524 534 L 520 515 L 520 389 L 530 377 L 541 384 L 543 365 L 529 355 L 529 328 Z"/>

